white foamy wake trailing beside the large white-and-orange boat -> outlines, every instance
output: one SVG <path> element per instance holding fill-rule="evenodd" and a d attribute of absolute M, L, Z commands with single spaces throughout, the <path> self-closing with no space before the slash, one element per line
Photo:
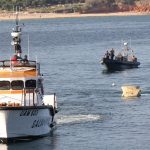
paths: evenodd
<path fill-rule="evenodd" d="M 102 115 L 69 115 L 69 116 L 59 116 L 57 118 L 57 124 L 74 124 L 74 123 L 84 123 L 84 122 L 91 122 L 91 121 L 97 121 L 97 120 L 103 120 Z"/>

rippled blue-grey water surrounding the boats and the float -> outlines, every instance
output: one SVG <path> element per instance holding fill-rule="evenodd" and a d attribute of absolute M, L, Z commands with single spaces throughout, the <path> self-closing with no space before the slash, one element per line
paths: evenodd
<path fill-rule="evenodd" d="M 23 22 L 23 50 L 29 45 L 30 58 L 41 62 L 45 92 L 58 97 L 57 129 L 39 140 L 1 144 L 0 150 L 150 149 L 150 16 Z M 0 22 L 0 59 L 13 53 L 13 24 Z M 123 41 L 141 66 L 107 73 L 100 57 L 106 49 L 121 49 Z M 122 98 L 124 84 L 139 85 L 141 97 Z"/>

